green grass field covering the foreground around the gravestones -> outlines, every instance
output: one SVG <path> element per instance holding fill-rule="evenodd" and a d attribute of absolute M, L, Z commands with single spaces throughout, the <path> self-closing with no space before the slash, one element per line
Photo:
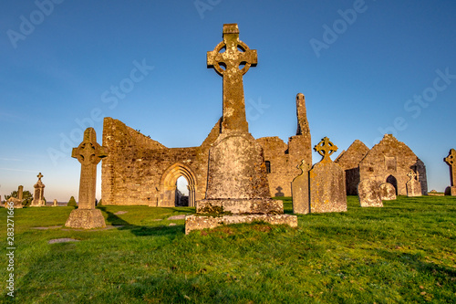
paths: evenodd
<path fill-rule="evenodd" d="M 184 235 L 193 208 L 103 206 L 107 230 L 62 227 L 71 207 L 15 210 L 17 303 L 454 303 L 456 198 L 299 215 L 299 226 Z M 115 215 L 127 211 L 123 215 Z M 291 213 L 291 201 L 285 200 Z M 0 210 L 6 241 L 6 210 Z M 172 225 L 170 225 L 172 224 Z M 51 227 L 35 229 L 34 227 Z M 59 226 L 59 227 L 55 227 Z M 56 238 L 78 242 L 48 244 Z M 1 302 L 6 295 L 6 242 Z"/>

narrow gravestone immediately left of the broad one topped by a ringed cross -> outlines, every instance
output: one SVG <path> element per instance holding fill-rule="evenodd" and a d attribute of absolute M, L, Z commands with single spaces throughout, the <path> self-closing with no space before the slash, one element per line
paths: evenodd
<path fill-rule="evenodd" d="M 309 165 L 305 160 L 297 166 L 301 173 L 291 183 L 293 195 L 293 213 L 306 215 L 310 211 L 309 200 Z"/>

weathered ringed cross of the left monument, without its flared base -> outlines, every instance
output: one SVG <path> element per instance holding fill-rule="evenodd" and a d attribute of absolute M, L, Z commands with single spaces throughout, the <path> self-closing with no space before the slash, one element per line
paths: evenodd
<path fill-rule="evenodd" d="M 98 144 L 95 130 L 88 128 L 84 131 L 83 141 L 78 148 L 73 148 L 71 153 L 71 157 L 78 159 L 81 163 L 78 209 L 95 208 L 97 164 L 106 156 L 108 156 L 107 150 Z"/>

